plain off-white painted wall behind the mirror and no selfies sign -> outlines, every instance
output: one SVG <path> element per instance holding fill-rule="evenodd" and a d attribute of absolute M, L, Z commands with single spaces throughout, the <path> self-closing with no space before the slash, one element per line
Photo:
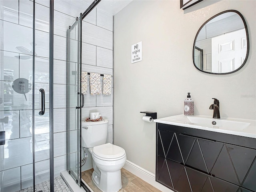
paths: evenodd
<path fill-rule="evenodd" d="M 212 98 L 220 116 L 256 118 L 256 1 L 202 1 L 183 11 L 180 1 L 133 1 L 114 16 L 114 144 L 127 159 L 155 173 L 158 118 L 182 114 L 191 92 L 195 114 L 212 116 Z M 193 65 L 192 48 L 200 26 L 224 10 L 241 12 L 248 25 L 250 52 L 244 67 L 228 75 L 206 74 Z M 131 45 L 142 41 L 141 62 L 131 64 Z"/>

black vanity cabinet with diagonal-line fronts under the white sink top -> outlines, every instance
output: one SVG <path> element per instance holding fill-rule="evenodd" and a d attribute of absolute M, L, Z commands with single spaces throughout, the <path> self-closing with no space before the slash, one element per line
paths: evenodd
<path fill-rule="evenodd" d="M 255 192 L 256 139 L 157 123 L 156 181 L 178 192 Z"/>

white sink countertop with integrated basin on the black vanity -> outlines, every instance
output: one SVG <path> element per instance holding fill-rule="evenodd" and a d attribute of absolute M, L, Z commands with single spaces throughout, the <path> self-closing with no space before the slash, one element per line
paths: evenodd
<path fill-rule="evenodd" d="M 216 125 L 212 125 L 212 121 L 217 122 Z M 155 119 L 154 122 L 256 138 L 256 120 L 250 119 L 225 117 L 215 119 L 211 116 L 181 114 Z"/>

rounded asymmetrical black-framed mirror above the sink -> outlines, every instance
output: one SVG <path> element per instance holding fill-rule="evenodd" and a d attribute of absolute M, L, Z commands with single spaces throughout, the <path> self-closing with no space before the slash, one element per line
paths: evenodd
<path fill-rule="evenodd" d="M 230 74 L 244 66 L 249 54 L 248 29 L 236 10 L 207 20 L 194 40 L 194 66 L 206 73 Z"/>

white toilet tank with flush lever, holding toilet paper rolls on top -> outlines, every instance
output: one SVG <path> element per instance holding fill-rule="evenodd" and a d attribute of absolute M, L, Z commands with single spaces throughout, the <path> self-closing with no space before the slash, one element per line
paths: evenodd
<path fill-rule="evenodd" d="M 82 121 L 82 147 L 91 148 L 106 143 L 108 120 L 97 122 Z"/>

